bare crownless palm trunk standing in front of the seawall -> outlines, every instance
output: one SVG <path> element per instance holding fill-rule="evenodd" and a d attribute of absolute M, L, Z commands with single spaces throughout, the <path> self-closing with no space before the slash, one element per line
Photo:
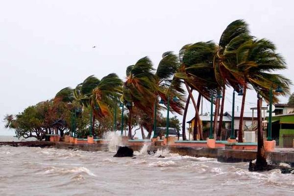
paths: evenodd
<path fill-rule="evenodd" d="M 256 155 L 256 168 L 265 168 L 268 163 L 265 155 L 264 142 L 263 142 L 263 128 L 262 128 L 262 98 L 257 100 L 257 155 Z"/>

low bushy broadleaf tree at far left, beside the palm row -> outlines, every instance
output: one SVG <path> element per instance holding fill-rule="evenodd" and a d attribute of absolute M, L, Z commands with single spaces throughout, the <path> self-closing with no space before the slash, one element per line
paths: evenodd
<path fill-rule="evenodd" d="M 57 130 L 63 133 L 68 128 L 70 107 L 62 101 L 48 100 L 29 106 L 15 116 L 6 115 L 6 128 L 15 129 L 18 138 L 36 138 L 43 140 L 45 134 L 54 134 Z"/>

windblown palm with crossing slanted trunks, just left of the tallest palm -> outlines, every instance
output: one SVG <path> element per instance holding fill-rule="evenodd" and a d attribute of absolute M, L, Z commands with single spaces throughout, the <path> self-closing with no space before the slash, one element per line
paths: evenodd
<path fill-rule="evenodd" d="M 179 52 L 181 67 L 175 74 L 176 77 L 183 79 L 189 97 L 192 99 L 196 111 L 195 127 L 197 127 L 198 124 L 199 130 L 197 129 L 197 132 L 200 135 L 201 140 L 203 140 L 203 131 L 198 112 L 200 99 L 198 98 L 198 103 L 196 104 L 192 95 L 192 90 L 196 90 L 199 95 L 208 100 L 212 95 L 217 94 L 219 85 L 215 80 L 213 72 L 213 57 L 215 52 L 216 45 L 211 41 L 198 42 L 184 46 Z M 187 100 L 190 99 L 189 97 Z M 186 105 L 187 104 L 189 103 L 187 102 Z M 185 113 L 186 111 L 184 111 L 184 114 Z M 194 140 L 196 140 L 196 131 L 194 136 Z"/>

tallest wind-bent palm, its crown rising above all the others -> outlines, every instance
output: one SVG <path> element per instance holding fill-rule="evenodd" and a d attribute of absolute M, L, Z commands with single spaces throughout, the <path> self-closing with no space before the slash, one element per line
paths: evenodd
<path fill-rule="evenodd" d="M 240 92 L 242 87 L 244 91 L 244 101 L 246 94 L 246 85 L 243 73 L 239 72 L 236 65 L 236 50 L 246 41 L 252 39 L 249 33 L 248 25 L 243 20 L 236 20 L 229 24 L 222 32 L 217 52 L 214 57 L 214 68 L 216 80 L 223 89 L 223 99 L 225 96 L 225 86 L 231 86 L 237 92 Z M 223 103 L 221 104 L 221 111 L 223 111 Z M 244 104 L 241 106 L 240 127 L 243 127 Z M 222 113 L 220 117 L 220 126 L 222 124 Z M 219 128 L 219 136 L 220 136 Z M 242 128 L 241 128 L 242 129 Z M 239 128 L 240 130 L 240 128 Z M 239 139 L 242 140 L 242 136 Z"/>

